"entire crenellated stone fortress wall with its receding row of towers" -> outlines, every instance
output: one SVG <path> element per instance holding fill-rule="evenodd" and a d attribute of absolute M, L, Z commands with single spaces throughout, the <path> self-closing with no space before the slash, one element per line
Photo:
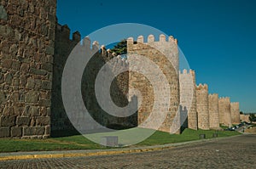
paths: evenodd
<path fill-rule="evenodd" d="M 69 39 L 70 29 L 67 25 L 56 24 L 55 14 L 55 0 L 2 0 L 0 3 L 0 138 L 48 138 L 50 130 L 74 129 L 62 104 L 61 75 L 68 55 L 81 37 L 79 32 L 74 32 L 73 39 Z M 81 89 L 84 104 L 93 118 L 103 126 L 115 129 L 136 127 L 146 121 L 153 109 L 154 93 L 164 90 L 161 88 L 161 79 L 157 87 L 153 87 L 143 74 L 133 71 L 119 74 L 110 88 L 113 102 L 120 107 L 125 106 L 129 103 L 127 94 L 130 101 L 137 102 L 136 97 L 131 99 L 134 94 L 131 88 L 140 91 L 143 102 L 138 112 L 128 117 L 108 115 L 96 100 L 94 87 L 97 72 L 110 59 L 115 60 L 113 73 L 129 67 L 129 63 L 103 46 L 99 48 L 98 42 L 91 45 L 89 38 L 81 42 L 80 48 L 86 48 L 85 52 L 89 53 L 98 51 L 90 59 L 89 66 L 85 67 Z M 166 41 L 166 37 L 160 35 L 160 40 L 156 42 L 154 36 L 150 35 L 148 42 L 144 42 L 142 36 L 133 42 L 129 38 L 127 50 L 128 55 L 140 54 L 158 65 L 171 87 L 170 107 L 160 127 L 161 131 L 180 132 L 181 124 L 178 121 L 183 121 L 188 110 L 189 128 L 208 129 L 217 126 L 216 97 L 208 98 L 207 85 L 195 87 L 193 70 L 189 70 L 189 73 L 183 71 L 178 79 L 177 39 L 168 37 Z M 188 100 L 191 98 L 192 103 L 189 105 Z M 179 104 L 182 106 L 180 111 Z M 159 110 L 163 107 L 157 106 Z M 230 125 L 231 122 L 237 122 L 237 112 L 239 104 L 230 104 L 230 99 L 218 100 L 220 123 Z M 241 115 L 243 121 L 248 121 L 247 118 L 247 115 Z"/>

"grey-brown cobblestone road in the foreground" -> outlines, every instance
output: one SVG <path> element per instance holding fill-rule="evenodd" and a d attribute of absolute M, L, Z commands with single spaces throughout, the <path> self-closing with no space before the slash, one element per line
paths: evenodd
<path fill-rule="evenodd" d="M 0 168 L 255 168 L 256 135 L 160 151 L 60 159 L 0 161 Z"/>

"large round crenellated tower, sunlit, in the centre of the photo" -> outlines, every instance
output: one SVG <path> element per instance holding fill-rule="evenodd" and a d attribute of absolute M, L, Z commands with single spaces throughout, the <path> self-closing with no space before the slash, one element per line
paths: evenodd
<path fill-rule="evenodd" d="M 178 128 L 173 127 L 174 116 L 177 114 L 178 105 L 179 105 L 179 82 L 178 82 L 178 50 L 177 50 L 177 40 L 173 37 L 169 37 L 166 41 L 164 35 L 160 35 L 160 41 L 155 42 L 154 36 L 148 36 L 148 42 L 144 42 L 142 36 L 137 38 L 137 42 L 133 41 L 133 38 L 128 38 L 127 40 L 127 53 L 128 57 L 132 57 L 133 54 L 137 54 L 147 59 L 150 59 L 154 62 L 155 65 L 158 65 L 160 70 L 163 71 L 164 76 L 166 77 L 169 86 L 171 87 L 171 100 L 170 108 L 167 110 L 167 115 L 165 121 L 160 127 L 160 131 L 164 132 L 179 132 Z M 167 57 L 172 60 L 169 61 Z M 128 59 L 129 60 L 129 59 Z M 144 70 L 145 67 L 142 66 L 142 61 L 137 60 L 137 68 Z M 131 65 L 130 65 L 131 66 Z M 132 69 L 132 68 L 131 68 Z M 143 74 L 137 73 L 135 71 L 130 72 L 129 76 L 129 88 L 136 88 L 140 91 L 143 99 L 139 110 L 138 110 L 138 124 L 143 124 L 147 120 L 148 115 L 153 110 L 154 105 L 154 93 L 160 93 L 163 88 L 162 81 L 158 81 L 157 87 L 153 87 L 150 81 Z M 164 97 L 164 96 L 163 96 Z M 169 97 L 169 96 L 167 96 Z M 161 112 L 166 110 L 161 110 L 163 106 L 157 105 L 157 109 Z M 154 128 L 154 127 L 152 127 Z M 154 128 L 155 129 L 155 128 Z"/>

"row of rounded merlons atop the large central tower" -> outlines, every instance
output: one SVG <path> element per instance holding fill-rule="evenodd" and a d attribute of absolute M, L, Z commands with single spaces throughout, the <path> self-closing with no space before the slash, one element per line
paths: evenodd
<path fill-rule="evenodd" d="M 177 39 L 175 39 L 174 37 L 170 36 L 168 37 L 168 40 L 166 41 L 166 36 L 163 34 L 160 34 L 159 37 L 159 41 L 155 41 L 154 35 L 148 35 L 148 39 L 147 42 L 144 41 L 144 37 L 143 36 L 139 36 L 137 37 L 137 43 L 154 43 L 154 42 L 168 42 L 168 43 L 174 43 L 177 45 Z M 133 37 L 129 37 L 127 39 L 127 45 L 131 45 L 131 44 L 136 44 L 133 40 Z"/>

